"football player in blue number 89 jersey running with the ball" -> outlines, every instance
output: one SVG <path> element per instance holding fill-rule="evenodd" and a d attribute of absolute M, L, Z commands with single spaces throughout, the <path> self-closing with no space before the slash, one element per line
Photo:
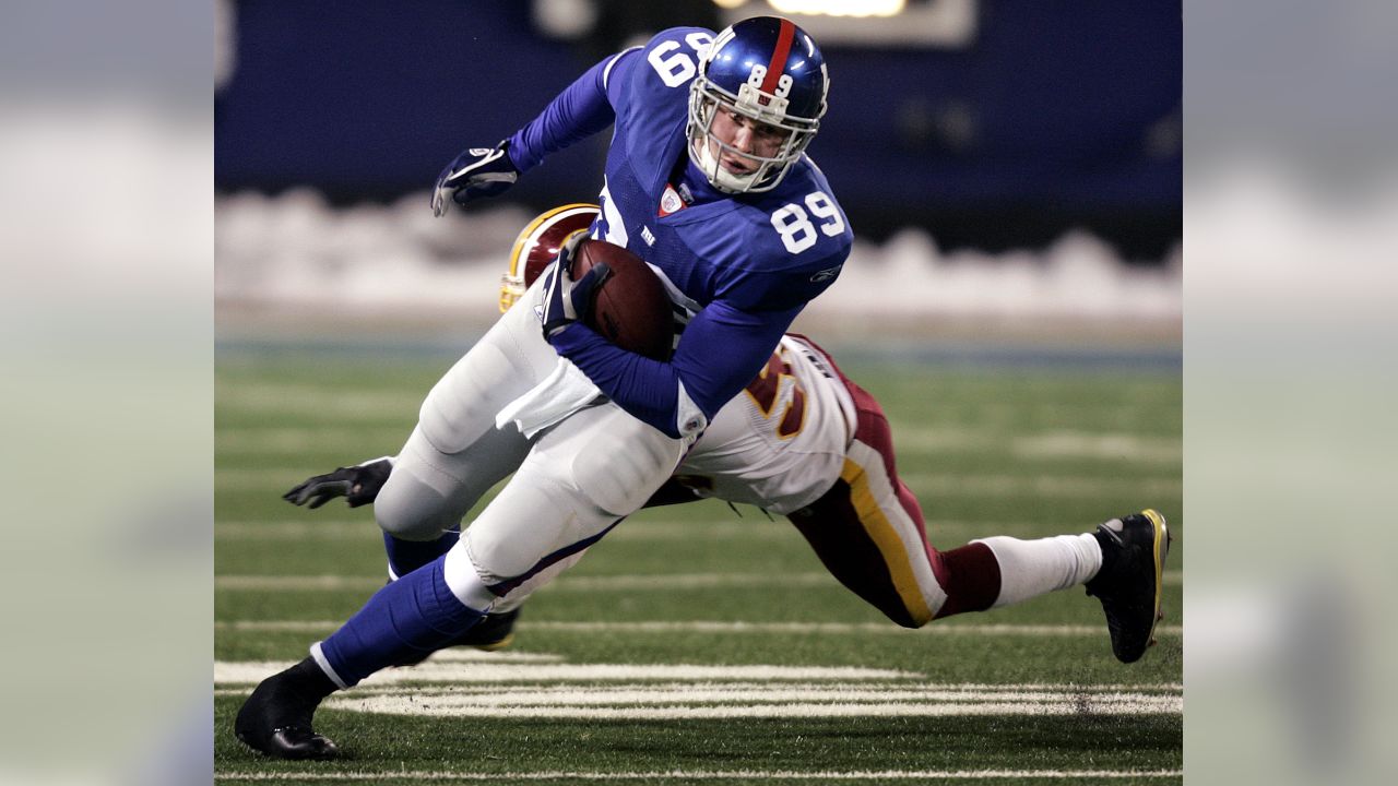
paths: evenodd
<path fill-rule="evenodd" d="M 604 271 L 572 281 L 565 248 L 428 393 L 375 503 L 398 579 L 264 680 L 238 715 L 239 738 L 275 757 L 336 755 L 312 730 L 326 695 L 467 636 L 665 483 L 849 256 L 844 213 L 805 155 L 828 91 L 821 50 L 788 20 L 674 28 L 607 57 L 512 137 L 442 172 L 438 214 L 612 126 L 591 236 L 661 277 L 672 357 L 628 352 L 583 323 Z M 445 533 L 510 473 L 460 538 Z"/>

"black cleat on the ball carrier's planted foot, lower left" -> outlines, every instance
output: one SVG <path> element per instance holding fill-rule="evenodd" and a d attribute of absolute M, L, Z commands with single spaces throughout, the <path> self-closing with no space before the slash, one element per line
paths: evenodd
<path fill-rule="evenodd" d="M 267 677 L 253 689 L 238 710 L 233 733 L 252 750 L 275 758 L 336 758 L 340 748 L 310 727 L 320 699 L 334 688 L 334 683 L 308 657 Z"/>

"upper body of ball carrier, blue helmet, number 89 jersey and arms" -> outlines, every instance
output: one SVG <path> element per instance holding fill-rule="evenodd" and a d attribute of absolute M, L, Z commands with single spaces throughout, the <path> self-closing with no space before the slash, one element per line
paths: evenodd
<path fill-rule="evenodd" d="M 804 155 L 828 88 L 815 42 L 787 20 L 747 20 L 717 38 L 665 31 L 598 63 L 510 138 L 463 152 L 433 207 L 500 193 L 547 154 L 614 126 L 593 236 L 656 267 L 693 319 L 668 364 L 637 365 L 587 327 L 559 323 L 548 340 L 622 408 L 691 436 L 849 255 L 844 213 Z M 559 269 L 549 291 L 569 287 Z"/>

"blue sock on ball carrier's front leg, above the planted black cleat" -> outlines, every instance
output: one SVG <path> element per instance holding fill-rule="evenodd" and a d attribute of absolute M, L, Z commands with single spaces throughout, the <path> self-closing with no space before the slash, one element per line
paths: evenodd
<path fill-rule="evenodd" d="M 333 680 L 350 687 L 387 666 L 417 663 L 485 617 L 452 594 L 442 571 L 445 562 L 445 557 L 438 558 L 386 585 L 316 645 Z"/>

